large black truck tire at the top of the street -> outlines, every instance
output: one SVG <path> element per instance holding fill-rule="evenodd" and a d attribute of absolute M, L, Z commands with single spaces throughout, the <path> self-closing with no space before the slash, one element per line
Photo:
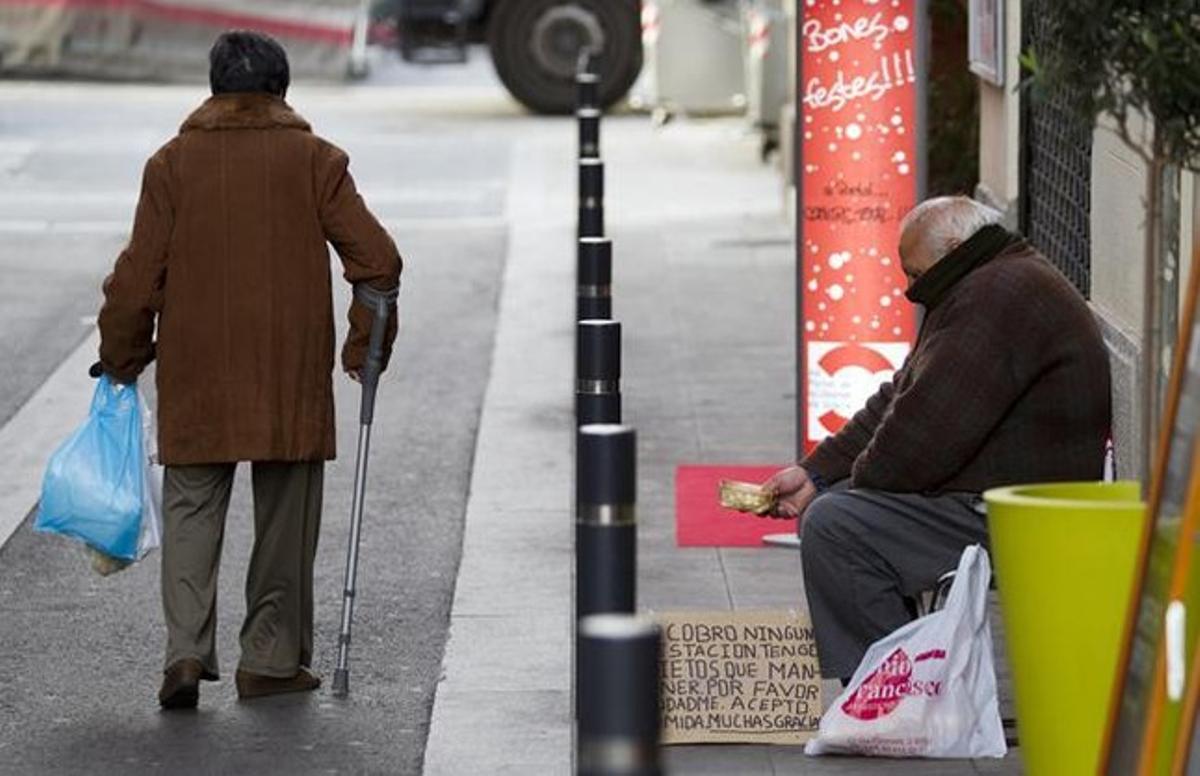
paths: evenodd
<path fill-rule="evenodd" d="M 575 66 L 599 49 L 600 102 L 629 92 L 642 70 L 638 0 L 497 0 L 487 28 L 492 62 L 505 88 L 536 113 L 575 109 Z"/>

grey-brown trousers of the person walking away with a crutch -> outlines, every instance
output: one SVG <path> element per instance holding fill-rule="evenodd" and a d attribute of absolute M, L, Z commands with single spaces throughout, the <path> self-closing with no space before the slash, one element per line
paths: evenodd
<path fill-rule="evenodd" d="M 235 464 L 167 467 L 162 608 L 169 667 L 184 657 L 216 679 L 217 569 Z M 312 566 L 324 462 L 256 462 L 254 549 L 246 575 L 239 668 L 294 676 L 312 664 Z"/>

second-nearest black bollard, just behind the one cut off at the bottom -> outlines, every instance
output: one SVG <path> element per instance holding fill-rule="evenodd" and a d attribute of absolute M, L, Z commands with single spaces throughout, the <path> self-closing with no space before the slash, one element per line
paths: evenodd
<path fill-rule="evenodd" d="M 575 613 L 631 614 L 637 592 L 637 443 L 617 423 L 582 426 L 575 458 Z"/>

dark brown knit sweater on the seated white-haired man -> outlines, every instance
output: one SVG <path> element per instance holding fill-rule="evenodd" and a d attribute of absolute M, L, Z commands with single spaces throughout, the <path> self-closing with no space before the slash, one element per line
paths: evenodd
<path fill-rule="evenodd" d="M 800 465 L 906 493 L 1096 480 L 1110 411 L 1091 309 L 1021 240 L 929 311 L 904 367 Z"/>

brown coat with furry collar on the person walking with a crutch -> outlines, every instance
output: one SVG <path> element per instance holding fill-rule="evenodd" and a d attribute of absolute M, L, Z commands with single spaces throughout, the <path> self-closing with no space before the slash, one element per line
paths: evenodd
<path fill-rule="evenodd" d="M 395 288 L 401 269 L 347 167 L 259 94 L 208 100 L 150 157 L 132 237 L 104 281 L 100 356 L 121 381 L 157 357 L 163 463 L 335 456 L 326 241 L 349 283 Z M 355 369 L 371 314 L 354 302 L 349 318 L 342 362 Z M 395 326 L 389 351 L 394 337 Z"/>

